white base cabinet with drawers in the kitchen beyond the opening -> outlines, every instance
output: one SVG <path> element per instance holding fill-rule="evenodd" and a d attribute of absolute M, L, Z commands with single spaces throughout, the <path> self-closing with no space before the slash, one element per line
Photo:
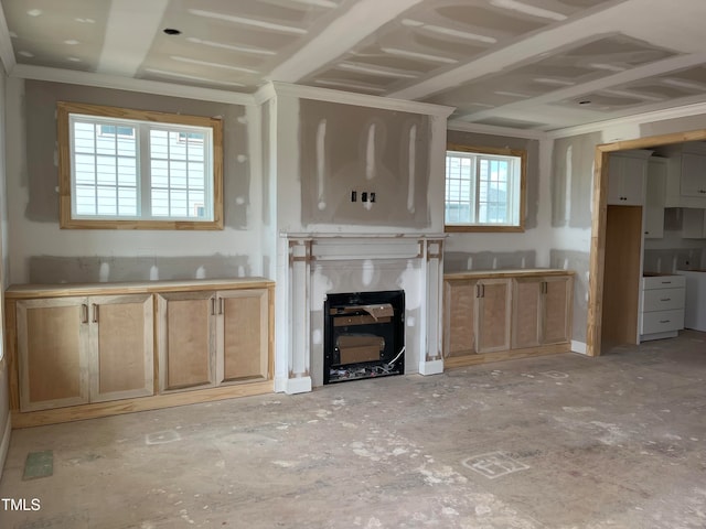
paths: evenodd
<path fill-rule="evenodd" d="M 682 276 L 642 278 L 640 341 L 675 337 L 684 328 L 684 285 Z"/>

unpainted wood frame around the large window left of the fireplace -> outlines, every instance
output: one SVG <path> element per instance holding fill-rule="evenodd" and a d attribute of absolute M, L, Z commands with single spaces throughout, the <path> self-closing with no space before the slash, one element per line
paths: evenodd
<path fill-rule="evenodd" d="M 72 183 L 72 145 L 69 115 L 84 115 L 98 118 L 119 118 L 135 121 L 169 123 L 175 126 L 206 127 L 212 130 L 213 174 L 210 182 L 213 198 L 212 220 L 183 220 L 158 218 L 74 218 Z M 136 110 L 129 108 L 88 105 L 82 102 L 58 101 L 56 104 L 56 126 L 58 143 L 58 217 L 62 229 L 180 229 L 217 230 L 223 229 L 223 120 L 203 116 L 185 116 Z M 138 161 L 139 163 L 139 161 Z M 138 184 L 139 185 L 139 184 Z"/>

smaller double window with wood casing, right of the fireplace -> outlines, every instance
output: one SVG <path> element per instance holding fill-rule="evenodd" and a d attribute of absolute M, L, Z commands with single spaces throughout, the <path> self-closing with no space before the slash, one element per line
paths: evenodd
<path fill-rule="evenodd" d="M 449 145 L 447 231 L 524 229 L 524 151 Z"/>

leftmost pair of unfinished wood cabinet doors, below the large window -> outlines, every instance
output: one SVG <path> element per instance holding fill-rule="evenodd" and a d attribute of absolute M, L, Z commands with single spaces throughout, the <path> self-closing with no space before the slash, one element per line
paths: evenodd
<path fill-rule="evenodd" d="M 22 411 L 152 395 L 150 295 L 20 301 L 17 325 Z"/>

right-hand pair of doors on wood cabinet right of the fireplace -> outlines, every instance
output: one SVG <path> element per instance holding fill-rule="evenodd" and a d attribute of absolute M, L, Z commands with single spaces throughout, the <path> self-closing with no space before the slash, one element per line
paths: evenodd
<path fill-rule="evenodd" d="M 569 341 L 571 276 L 513 280 L 513 348 Z"/>

